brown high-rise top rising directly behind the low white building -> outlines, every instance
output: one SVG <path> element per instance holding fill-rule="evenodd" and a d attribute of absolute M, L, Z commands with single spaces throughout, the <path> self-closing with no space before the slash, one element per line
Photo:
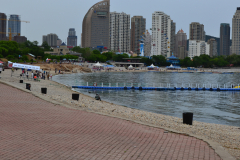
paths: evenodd
<path fill-rule="evenodd" d="M 205 31 L 203 24 L 200 24 L 198 22 L 192 22 L 189 28 L 189 40 L 205 40 Z"/>

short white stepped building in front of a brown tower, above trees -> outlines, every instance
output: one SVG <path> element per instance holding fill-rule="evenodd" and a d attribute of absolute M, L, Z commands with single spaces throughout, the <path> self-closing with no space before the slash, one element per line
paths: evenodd
<path fill-rule="evenodd" d="M 202 54 L 209 55 L 210 45 L 205 41 L 190 40 L 188 57 L 191 59 L 195 56 L 200 56 Z"/>

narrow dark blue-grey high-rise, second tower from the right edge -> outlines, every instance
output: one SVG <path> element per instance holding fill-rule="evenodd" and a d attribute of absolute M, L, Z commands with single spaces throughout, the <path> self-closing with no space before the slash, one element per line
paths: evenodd
<path fill-rule="evenodd" d="M 220 25 L 220 55 L 230 55 L 230 25 L 228 23 Z"/>

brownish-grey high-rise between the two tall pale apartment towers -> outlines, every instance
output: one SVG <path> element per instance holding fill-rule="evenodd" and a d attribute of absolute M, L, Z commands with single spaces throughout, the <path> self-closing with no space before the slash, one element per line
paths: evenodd
<path fill-rule="evenodd" d="M 133 16 L 131 18 L 131 51 L 140 53 L 140 43 L 146 30 L 146 18 Z"/>

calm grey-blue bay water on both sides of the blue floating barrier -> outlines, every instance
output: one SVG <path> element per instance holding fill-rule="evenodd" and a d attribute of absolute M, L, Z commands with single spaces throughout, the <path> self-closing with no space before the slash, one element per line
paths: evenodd
<path fill-rule="evenodd" d="M 227 84 L 240 84 L 240 74 L 203 74 L 203 73 L 90 73 L 54 76 L 59 83 L 73 85 L 105 86 L 172 86 L 189 84 L 195 87 L 206 84 L 207 87 L 217 84 L 223 87 Z M 118 84 L 116 84 L 118 82 Z M 193 112 L 194 120 L 208 123 L 240 126 L 240 92 L 211 92 L 211 91 L 139 91 L 139 90 L 84 90 L 76 91 L 94 97 L 100 94 L 102 100 L 115 104 L 136 108 L 154 113 L 160 113 L 182 118 L 183 112 Z M 90 93 L 89 93 L 90 92 Z"/>

